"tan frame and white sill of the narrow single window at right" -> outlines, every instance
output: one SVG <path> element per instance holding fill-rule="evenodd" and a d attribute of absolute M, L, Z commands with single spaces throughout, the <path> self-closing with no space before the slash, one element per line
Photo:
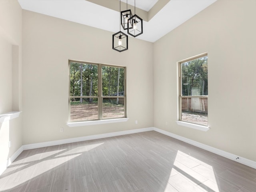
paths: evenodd
<path fill-rule="evenodd" d="M 207 131 L 207 130 L 209 130 L 208 113 L 207 113 L 207 125 L 182 120 L 182 98 L 207 98 L 207 102 L 208 102 L 208 95 L 207 96 L 206 95 L 200 95 L 200 96 L 183 96 L 182 95 L 182 69 L 181 69 L 182 66 L 181 65 L 184 62 L 189 62 L 189 61 L 192 61 L 192 60 L 204 57 L 204 56 L 208 57 L 208 52 L 204 52 L 202 54 L 198 54 L 196 56 L 192 56 L 190 58 L 187 58 L 187 59 L 177 62 L 177 64 L 178 64 L 178 120 L 176 122 L 177 122 L 177 124 L 182 125 L 182 126 L 187 126 L 187 127 L 195 128 L 198 130 Z"/>

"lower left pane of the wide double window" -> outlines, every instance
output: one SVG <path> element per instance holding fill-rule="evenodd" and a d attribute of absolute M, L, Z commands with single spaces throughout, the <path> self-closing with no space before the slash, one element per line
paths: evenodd
<path fill-rule="evenodd" d="M 97 98 L 71 98 L 70 99 L 70 121 L 97 120 L 98 99 Z"/>

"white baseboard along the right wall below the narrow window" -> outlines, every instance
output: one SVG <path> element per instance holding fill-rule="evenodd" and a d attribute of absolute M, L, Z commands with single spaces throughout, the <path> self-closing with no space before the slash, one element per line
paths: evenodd
<path fill-rule="evenodd" d="M 220 150 L 220 149 L 217 149 L 217 148 L 214 148 L 214 147 L 211 147 L 211 146 L 208 146 L 208 145 L 205 145 L 205 144 L 196 142 L 196 141 L 194 141 L 194 140 L 191 140 L 191 139 L 188 139 L 188 138 L 185 138 L 185 137 L 182 137 L 182 136 L 173 134 L 173 133 L 168 132 L 168 131 L 164 131 L 164 130 L 162 130 L 162 129 L 158 129 L 158 128 L 155 128 L 155 127 L 154 127 L 154 131 L 159 132 L 159 133 L 162 133 L 162 134 L 167 135 L 167 136 L 170 136 L 170 137 L 172 137 L 172 138 L 176 138 L 176 139 L 181 140 L 181 141 L 184 141 L 184 142 L 186 142 L 186 143 L 188 143 L 188 144 L 197 146 L 197 147 L 202 148 L 202 149 L 204 149 L 204 150 L 210 151 L 210 152 L 212 152 L 212 153 L 218 154 L 218 155 L 223 156 L 223 157 L 226 157 L 226 158 L 228 158 L 228 159 L 230 159 L 230 160 L 239 162 L 239 163 L 241 163 L 241 164 L 244 164 L 244 165 L 247 165 L 247 166 L 249 166 L 249 167 L 252 167 L 252 168 L 256 169 L 256 162 L 255 162 L 255 161 L 252 161 L 252 160 L 249 160 L 249 159 L 240 157 L 240 156 L 235 155 L 235 154 L 228 153 L 228 152 L 226 152 L 226 151 L 222 151 L 222 150 Z M 237 158 L 238 158 L 238 159 L 237 159 Z"/>

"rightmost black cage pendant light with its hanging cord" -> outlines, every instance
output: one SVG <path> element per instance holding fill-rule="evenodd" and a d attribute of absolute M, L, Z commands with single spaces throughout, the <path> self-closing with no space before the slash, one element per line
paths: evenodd
<path fill-rule="evenodd" d="M 128 23 L 131 23 L 132 28 L 128 27 L 128 34 L 136 37 L 143 33 L 143 25 L 142 25 L 142 18 L 140 18 L 138 15 L 136 15 L 136 6 L 135 6 L 135 0 L 134 0 L 134 15 L 128 19 Z"/>

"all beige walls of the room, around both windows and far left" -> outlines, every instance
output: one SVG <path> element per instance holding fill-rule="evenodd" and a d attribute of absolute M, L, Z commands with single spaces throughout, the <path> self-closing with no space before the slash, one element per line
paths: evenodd
<path fill-rule="evenodd" d="M 119 53 L 111 48 L 111 32 L 25 10 L 22 14 L 17 1 L 0 1 L 0 114 L 23 111 L 0 125 L 0 164 L 22 144 L 153 125 L 256 161 L 255 7 L 255 1 L 217 1 L 154 44 L 129 38 L 129 50 Z M 208 52 L 208 132 L 175 122 L 176 62 L 203 52 Z M 127 67 L 128 122 L 66 126 L 68 59 Z"/>

